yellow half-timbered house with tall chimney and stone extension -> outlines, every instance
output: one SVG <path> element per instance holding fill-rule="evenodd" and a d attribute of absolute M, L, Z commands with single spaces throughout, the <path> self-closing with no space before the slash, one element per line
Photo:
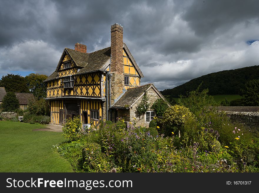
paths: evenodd
<path fill-rule="evenodd" d="M 98 125 L 99 120 L 116 121 L 117 116 L 124 114 L 129 115 L 126 121 L 130 121 L 134 116 L 129 113 L 130 105 L 123 106 L 120 100 L 130 96 L 127 90 L 131 94 L 136 91 L 138 96 L 128 98 L 130 104 L 141 100 L 141 92 L 148 93 L 148 90 L 151 98 L 163 98 L 152 84 L 136 89 L 142 77 L 123 42 L 123 27 L 119 24 L 111 26 L 108 48 L 92 53 L 87 53 L 87 46 L 80 43 L 75 44 L 74 50 L 64 48 L 56 70 L 44 81 L 47 83 L 46 99 L 51 105 L 51 123 L 62 125 L 67 118 L 79 116 L 83 124 Z M 145 121 L 140 123 L 148 126 L 152 117 L 142 119 Z"/>

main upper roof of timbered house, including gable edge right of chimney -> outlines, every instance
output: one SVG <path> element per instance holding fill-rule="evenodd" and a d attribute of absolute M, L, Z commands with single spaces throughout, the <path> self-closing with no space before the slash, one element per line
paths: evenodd
<path fill-rule="evenodd" d="M 137 72 L 139 73 L 140 77 L 144 77 L 125 43 L 123 43 L 123 47 L 126 53 L 128 54 L 129 58 L 131 59 L 133 66 L 136 68 Z M 109 63 L 110 56 L 111 56 L 111 47 L 97 50 L 92 53 L 83 53 L 76 50 L 72 50 L 70 48 L 65 48 L 61 55 L 61 58 L 59 60 L 56 70 L 43 82 L 54 80 L 59 77 L 58 69 L 62 63 L 62 59 L 66 54 L 68 54 L 71 60 L 73 61 L 73 63 L 80 68 L 80 71 L 76 73 L 77 75 L 90 73 L 94 71 L 105 71 L 103 67 L 105 66 L 105 64 Z"/>

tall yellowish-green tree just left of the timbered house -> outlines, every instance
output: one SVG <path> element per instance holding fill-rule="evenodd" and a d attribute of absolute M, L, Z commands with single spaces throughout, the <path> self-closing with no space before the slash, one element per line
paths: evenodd
<path fill-rule="evenodd" d="M 44 80 L 48 78 L 47 75 L 44 74 L 34 74 L 31 73 L 25 76 L 25 81 L 31 93 L 33 93 L 36 99 L 46 98 L 46 83 L 43 83 Z"/>

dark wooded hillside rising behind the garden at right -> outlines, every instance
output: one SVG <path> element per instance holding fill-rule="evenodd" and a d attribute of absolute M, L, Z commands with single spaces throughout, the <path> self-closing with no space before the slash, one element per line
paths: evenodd
<path fill-rule="evenodd" d="M 241 94 L 240 89 L 245 87 L 249 80 L 259 79 L 259 66 L 225 70 L 194 78 L 187 83 L 172 89 L 160 91 L 163 95 L 178 98 L 179 95 L 195 90 L 200 83 L 200 89 L 209 89 L 209 95 Z"/>

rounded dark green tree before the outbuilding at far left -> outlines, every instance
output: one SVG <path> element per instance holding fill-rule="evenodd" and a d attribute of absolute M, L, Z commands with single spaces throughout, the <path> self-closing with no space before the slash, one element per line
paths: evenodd
<path fill-rule="evenodd" d="M 1 108 L 4 112 L 13 112 L 20 108 L 19 100 L 13 92 L 6 93 L 1 104 Z"/>

